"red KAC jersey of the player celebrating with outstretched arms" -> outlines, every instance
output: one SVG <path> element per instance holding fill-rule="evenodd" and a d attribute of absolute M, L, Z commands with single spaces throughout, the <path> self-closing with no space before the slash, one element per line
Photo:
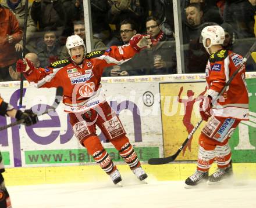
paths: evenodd
<path fill-rule="evenodd" d="M 51 67 L 29 70 L 24 76 L 36 87 L 62 86 L 65 111 L 84 112 L 105 102 L 100 83 L 104 68 L 125 63 L 136 53 L 129 44 L 112 46 L 87 53 L 81 65 L 61 60 L 52 63 Z"/>

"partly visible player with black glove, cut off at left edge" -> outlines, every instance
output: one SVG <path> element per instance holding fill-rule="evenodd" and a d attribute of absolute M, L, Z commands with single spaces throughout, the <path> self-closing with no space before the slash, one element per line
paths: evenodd
<path fill-rule="evenodd" d="M 17 121 L 19 121 L 20 119 L 24 119 L 23 124 L 26 126 L 33 125 L 38 121 L 37 115 L 35 115 L 32 110 L 25 110 L 24 112 L 20 110 L 16 110 L 15 108 L 13 108 L 12 105 L 3 101 L 1 97 L 0 97 L 0 115 L 16 118 Z M 10 203 L 9 193 L 5 187 L 5 182 L 2 175 L 4 171 L 5 171 L 5 167 L 3 166 L 3 158 L 0 152 L 0 207 L 12 208 L 12 205 Z"/>

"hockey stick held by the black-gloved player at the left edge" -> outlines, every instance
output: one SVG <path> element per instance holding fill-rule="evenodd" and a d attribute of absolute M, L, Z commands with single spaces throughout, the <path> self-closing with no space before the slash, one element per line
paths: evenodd
<path fill-rule="evenodd" d="M 48 108 L 47 110 L 45 110 L 41 114 L 37 114 L 37 116 L 48 114 L 49 112 L 55 111 L 55 109 L 58 107 L 59 103 L 61 103 L 62 94 L 63 94 L 63 88 L 61 86 L 57 87 L 54 103 L 51 105 L 50 108 Z M 19 125 L 23 122 L 24 122 L 24 119 L 20 119 L 19 121 L 9 123 L 6 126 L 1 126 L 0 131 L 3 130 L 3 129 L 7 129 L 9 127 L 15 126 L 15 125 Z"/>

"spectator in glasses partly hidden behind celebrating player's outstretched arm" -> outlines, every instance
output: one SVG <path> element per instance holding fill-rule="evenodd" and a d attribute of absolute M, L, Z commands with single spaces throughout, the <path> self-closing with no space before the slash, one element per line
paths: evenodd
<path fill-rule="evenodd" d="M 130 39 L 137 34 L 136 24 L 132 20 L 123 20 L 120 27 L 120 36 L 122 42 L 120 45 L 129 43 Z M 126 61 L 122 65 L 115 65 L 108 67 L 104 71 L 104 76 L 134 76 L 141 75 L 143 72 L 137 68 L 138 56 L 134 56 L 133 59 Z"/>

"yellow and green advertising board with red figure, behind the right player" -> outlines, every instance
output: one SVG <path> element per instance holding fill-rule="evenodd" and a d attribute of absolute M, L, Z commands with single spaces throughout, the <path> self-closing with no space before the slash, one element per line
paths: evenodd
<path fill-rule="evenodd" d="M 250 121 L 242 121 L 229 140 L 233 162 L 256 162 L 256 80 L 247 79 L 246 82 L 250 96 Z M 165 156 L 175 154 L 194 125 L 200 121 L 198 96 L 204 90 L 205 82 L 160 83 Z M 197 160 L 198 136 L 204 124 L 201 123 L 193 135 L 191 145 L 181 152 L 177 161 Z"/>

